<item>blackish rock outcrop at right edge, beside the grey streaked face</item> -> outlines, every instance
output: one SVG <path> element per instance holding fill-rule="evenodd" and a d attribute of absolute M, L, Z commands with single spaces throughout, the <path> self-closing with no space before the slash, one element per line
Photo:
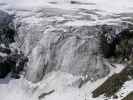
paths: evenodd
<path fill-rule="evenodd" d="M 100 32 L 100 51 L 105 58 L 129 56 L 132 52 L 133 28 L 124 28 L 117 32 L 117 27 L 103 25 Z"/>

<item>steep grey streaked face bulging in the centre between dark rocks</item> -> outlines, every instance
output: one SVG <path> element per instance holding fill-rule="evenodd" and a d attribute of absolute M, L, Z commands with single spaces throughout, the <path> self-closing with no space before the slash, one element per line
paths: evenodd
<path fill-rule="evenodd" d="M 75 31 L 55 28 L 44 32 L 31 51 L 27 79 L 37 82 L 53 70 L 94 79 L 108 74 L 109 68 L 99 53 L 99 40 L 91 36 L 87 28 L 72 29 Z"/>

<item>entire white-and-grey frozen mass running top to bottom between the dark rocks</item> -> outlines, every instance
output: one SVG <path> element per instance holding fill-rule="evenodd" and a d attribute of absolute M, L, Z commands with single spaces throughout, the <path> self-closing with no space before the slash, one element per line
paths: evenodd
<path fill-rule="evenodd" d="M 0 9 L 15 14 L 16 46 L 30 59 L 26 79 L 39 81 L 0 80 L 0 100 L 103 100 L 91 92 L 123 67 L 112 68 L 101 57 L 95 39 L 99 30 L 92 26 L 126 22 L 119 33 L 132 24 L 132 0 L 0 0 Z M 100 79 L 78 88 L 87 75 Z"/>

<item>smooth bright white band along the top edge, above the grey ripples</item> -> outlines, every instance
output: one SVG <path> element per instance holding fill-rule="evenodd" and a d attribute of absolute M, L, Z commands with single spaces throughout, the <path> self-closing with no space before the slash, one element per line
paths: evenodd
<path fill-rule="evenodd" d="M 71 4 L 70 1 L 78 1 L 81 3 L 88 3 L 79 5 Z M 56 2 L 51 4 L 50 2 Z M 88 9 L 99 10 L 101 15 L 132 12 L 132 0 L 0 0 L 0 4 L 5 3 L 10 9 L 37 9 L 45 7 L 61 8 L 61 9 Z M 2 6 L 1 6 L 2 8 Z"/>

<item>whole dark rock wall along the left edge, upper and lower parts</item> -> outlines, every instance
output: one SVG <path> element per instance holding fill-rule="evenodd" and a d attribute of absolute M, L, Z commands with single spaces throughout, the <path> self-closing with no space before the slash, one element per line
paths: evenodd
<path fill-rule="evenodd" d="M 13 16 L 0 11 L 0 78 L 4 78 L 11 72 L 13 78 L 19 78 L 19 73 L 23 70 L 28 58 L 18 50 L 12 51 L 9 45 L 15 42 L 15 28 L 13 26 Z M 6 55 L 6 56 L 3 56 Z"/>

